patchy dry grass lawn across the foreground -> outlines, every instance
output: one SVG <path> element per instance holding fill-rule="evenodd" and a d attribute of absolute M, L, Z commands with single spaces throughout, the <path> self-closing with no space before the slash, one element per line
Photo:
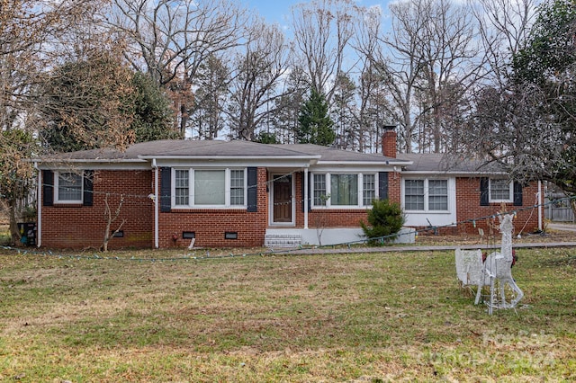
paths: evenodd
<path fill-rule="evenodd" d="M 0 253 L 0 380 L 576 379 L 572 249 L 521 250 L 493 316 L 452 253 L 68 255 Z"/>

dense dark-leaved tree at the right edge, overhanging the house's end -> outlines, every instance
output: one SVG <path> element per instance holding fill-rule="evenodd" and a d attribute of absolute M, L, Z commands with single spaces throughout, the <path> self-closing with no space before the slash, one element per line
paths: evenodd
<path fill-rule="evenodd" d="M 500 61 L 494 59 L 500 76 L 476 97 L 472 123 L 477 129 L 470 145 L 481 148 L 515 180 L 545 180 L 574 195 L 576 12 L 572 2 L 543 3 L 528 25 L 533 10 L 531 3 L 522 4 L 521 12 L 512 8 L 507 18 L 492 20 L 499 26 L 514 16 L 521 22 L 517 27 L 529 32 L 502 31 L 497 40 L 505 41 L 510 51 Z"/>

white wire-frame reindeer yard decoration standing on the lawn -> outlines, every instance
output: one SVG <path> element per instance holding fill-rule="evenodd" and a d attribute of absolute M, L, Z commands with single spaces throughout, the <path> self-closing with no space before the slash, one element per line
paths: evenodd
<path fill-rule="evenodd" d="M 518 288 L 516 281 L 512 278 L 512 263 L 514 262 L 512 251 L 512 231 L 514 227 L 512 218 L 511 214 L 500 215 L 499 228 L 502 234 L 500 253 L 493 252 L 483 261 L 480 250 L 466 251 L 456 249 L 455 261 L 458 279 L 462 281 L 463 285 L 476 285 L 478 287 L 474 301 L 475 305 L 480 303 L 482 287 L 490 286 L 491 298 L 488 305 L 490 314 L 492 314 L 493 307 L 516 307 L 520 299 L 524 297 L 524 293 Z M 509 303 L 506 301 L 505 295 L 507 284 L 516 294 Z M 500 290 L 500 300 L 496 298 L 496 286 Z"/>

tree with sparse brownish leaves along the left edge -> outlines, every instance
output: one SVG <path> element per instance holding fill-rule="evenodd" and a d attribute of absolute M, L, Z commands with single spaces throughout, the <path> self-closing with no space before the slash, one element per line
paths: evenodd
<path fill-rule="evenodd" d="M 29 156 L 40 147 L 33 119 L 36 89 L 47 69 L 58 60 L 53 53 L 78 22 L 92 20 L 102 2 L 4 0 L 0 2 L 0 199 L 10 209 L 10 227 L 19 237 L 15 219 L 20 201 L 30 192 Z"/>

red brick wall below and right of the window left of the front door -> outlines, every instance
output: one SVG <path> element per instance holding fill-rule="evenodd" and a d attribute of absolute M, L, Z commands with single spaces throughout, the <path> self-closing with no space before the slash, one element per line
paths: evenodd
<path fill-rule="evenodd" d="M 194 232 L 194 246 L 239 247 L 264 245 L 268 220 L 266 168 L 257 171 L 257 212 L 246 209 L 176 209 L 158 217 L 159 247 L 187 246 L 184 231 Z M 225 232 L 238 233 L 238 239 L 224 239 Z"/>

